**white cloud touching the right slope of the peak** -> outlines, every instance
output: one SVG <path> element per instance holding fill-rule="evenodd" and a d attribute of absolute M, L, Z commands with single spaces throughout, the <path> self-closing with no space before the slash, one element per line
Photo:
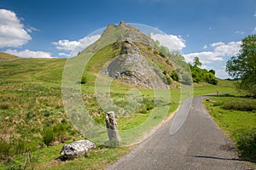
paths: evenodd
<path fill-rule="evenodd" d="M 153 33 L 151 33 L 150 36 L 154 39 L 154 41 L 158 40 L 160 45 L 165 46 L 170 51 L 181 50 L 186 47 L 184 43 L 185 41 L 180 36 Z"/>

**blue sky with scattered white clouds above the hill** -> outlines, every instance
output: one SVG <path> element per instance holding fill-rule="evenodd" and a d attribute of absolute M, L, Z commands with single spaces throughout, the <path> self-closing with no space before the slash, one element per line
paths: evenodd
<path fill-rule="evenodd" d="M 228 78 L 226 61 L 244 37 L 256 33 L 256 0 L 0 0 L 0 51 L 71 57 L 74 48 L 86 48 L 120 20 L 164 32 L 150 35 L 188 62 L 198 56 L 202 68 Z"/>

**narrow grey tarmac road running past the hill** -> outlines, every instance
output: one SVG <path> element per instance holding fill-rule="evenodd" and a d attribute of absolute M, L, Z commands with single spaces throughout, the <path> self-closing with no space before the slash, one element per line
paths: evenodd
<path fill-rule="evenodd" d="M 202 99 L 193 98 L 189 116 L 177 133 L 170 134 L 171 119 L 106 169 L 247 169 L 204 109 Z M 184 102 L 181 108 L 188 106 Z"/>

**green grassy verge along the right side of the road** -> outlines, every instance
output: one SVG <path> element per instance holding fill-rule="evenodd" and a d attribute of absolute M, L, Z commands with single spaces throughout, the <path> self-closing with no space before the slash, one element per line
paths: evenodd
<path fill-rule="evenodd" d="M 225 134 L 236 143 L 241 157 L 256 162 L 256 100 L 214 96 L 204 102 Z"/>

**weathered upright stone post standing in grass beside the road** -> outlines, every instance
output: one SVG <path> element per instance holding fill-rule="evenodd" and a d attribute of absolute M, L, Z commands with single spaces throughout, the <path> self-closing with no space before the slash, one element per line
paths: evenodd
<path fill-rule="evenodd" d="M 114 118 L 113 111 L 108 111 L 108 113 L 106 115 L 105 122 L 106 122 L 106 127 L 108 130 L 109 141 L 111 141 L 113 139 L 117 139 L 117 141 L 120 142 L 121 138 L 119 136 L 119 131 L 118 131 L 117 123 Z"/>

